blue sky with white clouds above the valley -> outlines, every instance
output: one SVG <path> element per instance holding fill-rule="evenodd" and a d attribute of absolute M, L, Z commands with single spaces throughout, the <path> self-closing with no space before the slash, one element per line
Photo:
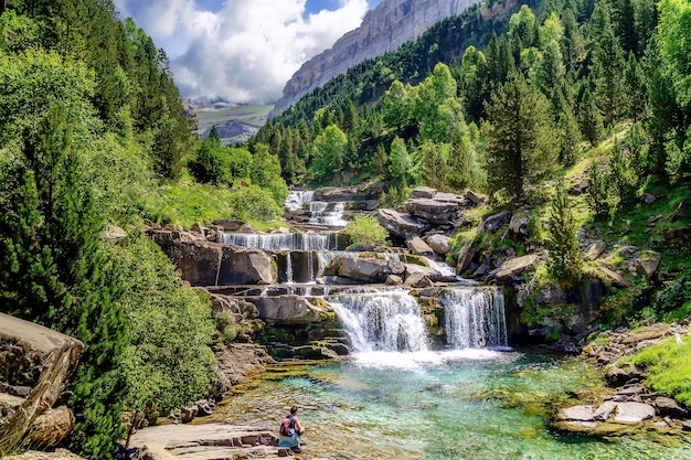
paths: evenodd
<path fill-rule="evenodd" d="M 382 0 L 114 0 L 166 50 L 184 98 L 273 104 Z"/>

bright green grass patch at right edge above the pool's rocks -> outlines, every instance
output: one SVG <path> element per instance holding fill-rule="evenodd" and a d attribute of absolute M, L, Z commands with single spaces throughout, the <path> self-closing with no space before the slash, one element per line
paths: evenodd
<path fill-rule="evenodd" d="M 635 364 L 648 372 L 648 385 L 660 395 L 691 406 L 691 335 L 671 338 L 647 347 L 635 355 L 619 360 Z"/>

